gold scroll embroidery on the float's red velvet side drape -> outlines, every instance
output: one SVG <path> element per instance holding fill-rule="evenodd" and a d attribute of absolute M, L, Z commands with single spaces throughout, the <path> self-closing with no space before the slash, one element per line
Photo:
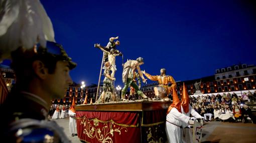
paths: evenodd
<path fill-rule="evenodd" d="M 102 121 L 97 118 L 88 119 L 86 117 L 80 117 L 80 124 L 83 124 L 83 133 L 87 135 L 89 138 L 97 138 L 98 142 L 113 142 L 112 138 L 114 136 L 114 132 L 118 132 L 121 134 L 121 130 L 125 132 L 128 131 L 127 127 L 137 127 L 137 125 L 126 125 L 126 124 L 118 124 L 113 120 Z M 93 124 L 91 123 L 93 121 Z M 99 127 L 99 122 L 103 123 L 103 127 Z M 118 126 L 117 126 L 118 125 Z"/>

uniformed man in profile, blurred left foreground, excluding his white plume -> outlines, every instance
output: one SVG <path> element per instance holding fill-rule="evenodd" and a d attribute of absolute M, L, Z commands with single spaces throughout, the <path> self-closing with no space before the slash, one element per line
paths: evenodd
<path fill-rule="evenodd" d="M 72 83 L 69 71 L 76 63 L 60 44 L 50 41 L 46 47 L 19 48 L 12 59 L 17 82 L 0 108 L 5 115 L 0 137 L 8 142 L 70 142 L 62 128 L 48 120 L 48 109 L 51 100 L 62 98 Z"/>

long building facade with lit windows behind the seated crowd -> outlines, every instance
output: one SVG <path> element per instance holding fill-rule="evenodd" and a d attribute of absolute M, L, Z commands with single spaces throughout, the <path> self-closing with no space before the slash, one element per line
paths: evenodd
<path fill-rule="evenodd" d="M 254 90 L 256 88 L 255 79 L 256 66 L 237 64 L 218 68 L 214 75 L 193 80 L 176 81 L 176 90 L 178 94 L 182 94 L 183 82 L 185 82 L 190 95 L 193 95 L 196 91 L 195 82 L 201 82 L 199 90 L 202 94 Z M 153 98 L 155 97 L 153 89 L 155 86 L 158 86 L 158 82 L 145 84 L 141 89 L 147 96 Z"/>

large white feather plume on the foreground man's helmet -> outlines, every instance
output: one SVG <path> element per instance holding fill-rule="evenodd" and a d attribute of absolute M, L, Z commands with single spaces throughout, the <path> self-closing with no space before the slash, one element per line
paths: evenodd
<path fill-rule="evenodd" d="M 0 0 L 0 60 L 19 46 L 55 41 L 50 18 L 39 0 Z"/>

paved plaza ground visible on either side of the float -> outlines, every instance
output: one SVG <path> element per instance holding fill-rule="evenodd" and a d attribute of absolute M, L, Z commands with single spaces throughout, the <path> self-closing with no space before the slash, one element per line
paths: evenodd
<path fill-rule="evenodd" d="M 72 142 L 80 142 L 77 136 L 69 133 L 69 118 L 55 119 L 64 128 Z M 203 127 L 202 142 L 256 142 L 256 124 L 242 122 L 206 122 Z"/>

